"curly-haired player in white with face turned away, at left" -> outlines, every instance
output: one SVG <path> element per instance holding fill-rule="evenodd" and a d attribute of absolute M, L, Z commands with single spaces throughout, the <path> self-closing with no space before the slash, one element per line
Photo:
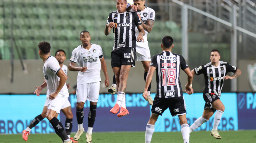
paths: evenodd
<path fill-rule="evenodd" d="M 34 93 L 39 96 L 42 89 L 48 87 L 50 100 L 47 104 L 46 118 L 50 121 L 55 132 L 61 137 L 64 143 L 72 143 L 67 136 L 62 123 L 57 119 L 62 105 L 66 102 L 69 96 L 66 86 L 67 76 L 61 69 L 56 58 L 50 55 L 51 45 L 48 42 L 40 42 L 38 48 L 39 56 L 44 62 L 43 74 L 46 82 L 41 86 L 36 87 L 37 89 Z"/>

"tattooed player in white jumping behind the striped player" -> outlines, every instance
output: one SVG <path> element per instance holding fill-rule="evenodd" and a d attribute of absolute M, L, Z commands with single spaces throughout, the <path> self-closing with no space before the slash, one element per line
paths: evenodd
<path fill-rule="evenodd" d="M 148 40 L 147 40 L 147 34 L 151 32 L 153 29 L 153 25 L 155 21 L 155 11 L 150 7 L 146 7 L 144 4 L 145 4 L 145 0 L 134 0 L 134 1 L 127 0 L 128 8 L 126 10 L 135 11 L 137 13 L 145 31 L 145 35 L 143 36 L 144 42 L 136 42 L 136 55 L 137 55 L 137 60 L 141 61 L 144 67 L 144 70 L 145 70 L 144 80 L 146 80 L 146 76 L 150 66 L 150 59 L 151 59 Z M 137 37 L 138 35 L 139 35 L 138 28 L 135 27 L 135 36 Z M 151 89 L 151 83 L 149 84 L 149 87 L 148 87 L 149 95 L 150 95 L 150 89 Z M 115 81 L 115 77 L 113 77 L 113 84 L 108 89 L 108 92 L 111 94 L 115 94 L 115 91 L 116 91 L 116 81 Z M 149 101 L 150 105 L 153 104 L 153 100 L 150 96 L 146 100 Z"/>

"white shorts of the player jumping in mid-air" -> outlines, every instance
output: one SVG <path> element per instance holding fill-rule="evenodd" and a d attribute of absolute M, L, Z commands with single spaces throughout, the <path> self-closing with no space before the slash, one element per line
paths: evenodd
<path fill-rule="evenodd" d="M 151 61 L 148 41 L 136 42 L 136 55 L 138 61 Z"/>

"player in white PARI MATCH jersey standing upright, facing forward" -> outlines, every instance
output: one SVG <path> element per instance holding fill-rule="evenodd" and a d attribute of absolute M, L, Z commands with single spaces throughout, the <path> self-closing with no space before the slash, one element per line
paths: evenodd
<path fill-rule="evenodd" d="M 84 104 L 86 100 L 90 101 L 90 112 L 88 114 L 88 129 L 86 133 L 86 142 L 91 143 L 91 134 L 96 118 L 96 107 L 100 92 L 101 69 L 105 75 L 105 86 L 108 87 L 109 79 L 107 74 L 107 66 L 103 57 L 100 45 L 91 44 L 91 36 L 88 31 L 81 31 L 79 45 L 72 52 L 68 69 L 71 71 L 79 71 L 77 75 L 76 87 L 76 119 L 78 123 L 78 131 L 74 136 L 74 140 L 79 140 L 84 132 Z M 75 64 L 78 64 L 78 67 Z"/>

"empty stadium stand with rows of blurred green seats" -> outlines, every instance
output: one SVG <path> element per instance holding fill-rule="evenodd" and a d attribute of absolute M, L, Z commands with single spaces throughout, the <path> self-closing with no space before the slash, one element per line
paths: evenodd
<path fill-rule="evenodd" d="M 49 41 L 53 53 L 57 49 L 65 49 L 69 58 L 72 50 L 80 44 L 79 33 L 82 30 L 90 32 L 92 43 L 102 46 L 105 58 L 111 58 L 113 33 L 111 32 L 111 36 L 105 36 L 104 28 L 109 12 L 116 10 L 114 1 L 103 0 L 100 4 L 98 1 L 89 0 L 74 0 L 72 2 L 65 0 L 45 0 L 43 2 L 24 0 L 20 2 L 14 0 L 13 2 L 4 1 L 2 5 L 1 17 L 3 18 L 0 21 L 0 39 L 5 41 L 4 48 L 9 48 L 13 31 L 13 38 L 18 43 L 17 46 L 23 59 L 39 58 L 37 44 L 40 41 Z M 152 5 L 152 8 L 159 9 L 155 5 Z M 174 52 L 181 54 L 180 19 L 174 17 L 175 21 L 168 19 L 161 21 L 160 16 L 156 16 L 153 31 L 148 34 L 151 55 L 161 52 L 160 39 L 165 35 L 175 35 L 176 48 Z M 206 44 L 209 42 L 209 38 L 202 32 L 190 32 L 189 42 L 190 50 L 193 52 L 200 52 L 209 46 Z M 217 44 L 216 47 L 224 49 L 224 51 L 230 50 L 229 44 L 225 43 Z M 0 51 L 2 49 L 0 47 Z M 9 56 L 5 57 L 5 59 L 9 58 Z M 15 59 L 18 59 L 17 51 Z"/>

